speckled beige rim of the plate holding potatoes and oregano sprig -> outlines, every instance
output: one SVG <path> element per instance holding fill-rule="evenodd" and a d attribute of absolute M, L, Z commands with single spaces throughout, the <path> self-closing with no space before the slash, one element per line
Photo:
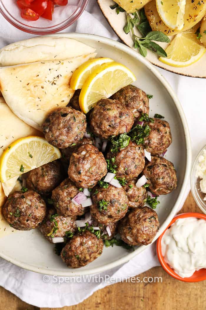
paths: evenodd
<path fill-rule="evenodd" d="M 120 38 L 120 40 L 125 45 L 132 48 L 133 43 L 131 45 L 130 34 L 125 35 L 124 30 L 123 30 L 124 25 L 122 24 L 122 22 L 125 23 L 125 21 L 123 21 L 125 18 L 123 13 L 118 14 L 118 18 L 119 18 L 120 23 L 117 23 L 116 20 L 114 19 L 115 14 L 116 14 L 115 10 L 111 10 L 109 8 L 109 6 L 111 4 L 114 4 L 114 2 L 113 1 L 111 2 L 111 0 L 96 0 L 96 1 L 99 5 L 100 10 L 102 11 L 102 14 L 106 18 L 108 24 L 111 26 L 111 28 L 116 33 L 118 38 Z M 107 12 L 108 8 L 110 9 L 110 11 L 112 13 L 111 16 Z M 158 42 L 158 44 L 162 45 L 160 42 Z M 163 47 L 164 47 L 164 45 L 166 46 L 167 44 L 163 44 Z M 172 67 L 172 66 L 169 66 L 167 64 L 162 63 L 161 61 L 158 60 L 157 56 L 154 53 L 152 53 L 151 51 L 148 51 L 148 55 L 146 56 L 146 58 L 149 60 L 149 62 L 151 64 L 155 65 L 156 67 L 158 67 L 160 69 L 166 70 L 168 72 L 179 74 L 179 75 L 190 77 L 190 78 L 206 78 L 206 71 L 204 71 L 204 73 L 201 73 L 201 68 L 206 67 L 206 53 L 195 64 L 192 64 L 191 66 L 187 66 L 184 68 Z M 198 66 L 200 68 L 200 70 L 199 69 L 197 70 L 196 66 Z M 194 71 L 193 68 L 195 68 L 196 73 L 192 73 Z"/>

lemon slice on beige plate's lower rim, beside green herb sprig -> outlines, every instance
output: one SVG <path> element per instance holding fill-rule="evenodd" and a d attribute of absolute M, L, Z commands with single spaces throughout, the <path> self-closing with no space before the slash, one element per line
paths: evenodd
<path fill-rule="evenodd" d="M 197 40 L 196 28 L 178 33 L 165 50 L 167 57 L 160 57 L 159 60 L 173 67 L 187 67 L 198 61 L 206 49 Z"/>

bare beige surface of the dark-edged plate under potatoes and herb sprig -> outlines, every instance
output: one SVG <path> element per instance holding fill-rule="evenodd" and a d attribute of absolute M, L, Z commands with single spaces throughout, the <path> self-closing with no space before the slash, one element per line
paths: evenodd
<path fill-rule="evenodd" d="M 116 14 L 116 10 L 111 10 L 110 6 L 114 5 L 113 0 L 97 0 L 97 3 L 99 4 L 99 7 L 107 19 L 108 23 L 110 24 L 111 28 L 114 30 L 114 32 L 117 34 L 117 36 L 124 42 L 124 44 L 128 45 L 129 47 L 134 47 L 131 33 L 124 33 L 124 26 L 126 24 L 126 14 L 125 13 L 119 13 Z M 137 30 L 137 27 L 134 28 L 134 31 L 137 35 L 140 35 L 140 33 Z M 173 37 L 170 37 L 170 40 Z M 167 46 L 167 43 L 160 43 L 164 49 Z M 136 49 L 137 51 L 137 49 Z M 191 66 L 185 67 L 185 68 L 175 68 L 168 66 L 167 64 L 163 64 L 161 61 L 158 60 L 158 57 L 151 51 L 148 50 L 148 54 L 146 57 L 152 64 L 155 66 L 165 69 L 167 71 L 178 73 L 181 75 L 186 75 L 193 78 L 206 78 L 206 53 L 202 56 L 202 58 L 197 61 L 195 64 L 192 64 Z"/>

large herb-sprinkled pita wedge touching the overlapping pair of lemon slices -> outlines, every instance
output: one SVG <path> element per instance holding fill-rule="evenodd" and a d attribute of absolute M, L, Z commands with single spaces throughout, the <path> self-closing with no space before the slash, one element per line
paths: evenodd
<path fill-rule="evenodd" d="M 15 115 L 41 131 L 48 113 L 72 98 L 69 82 L 74 70 L 95 55 L 0 68 L 0 90 Z"/>

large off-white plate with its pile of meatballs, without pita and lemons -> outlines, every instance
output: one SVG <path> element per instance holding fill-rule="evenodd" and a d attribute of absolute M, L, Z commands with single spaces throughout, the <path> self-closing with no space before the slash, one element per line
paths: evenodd
<path fill-rule="evenodd" d="M 127 66 L 137 81 L 87 114 L 79 90 L 49 113 L 43 134 L 61 158 L 23 174 L 22 189 L 3 206 L 17 232 L 0 238 L 0 256 L 61 276 L 102 272 L 154 242 L 178 210 L 191 164 L 187 121 L 161 74 L 119 42 L 70 36 Z"/>

